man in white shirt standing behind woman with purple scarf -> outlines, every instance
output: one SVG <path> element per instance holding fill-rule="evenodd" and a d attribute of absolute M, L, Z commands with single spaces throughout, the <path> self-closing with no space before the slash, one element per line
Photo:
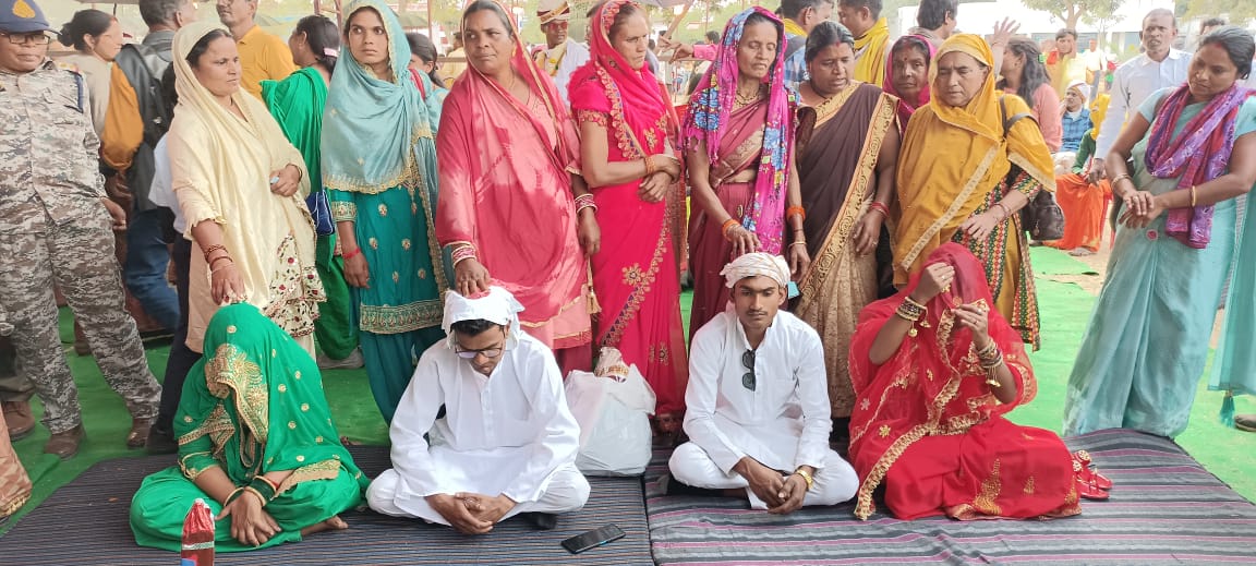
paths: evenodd
<path fill-rule="evenodd" d="M 1095 159 L 1090 167 L 1090 182 L 1098 183 L 1107 176 L 1104 159 L 1117 143 L 1128 113 L 1138 112 L 1138 105 L 1152 93 L 1186 82 L 1191 54 L 1173 49 L 1177 39 L 1177 18 L 1172 11 L 1157 8 L 1143 18 L 1143 54 L 1125 61 L 1113 74 L 1108 115 L 1099 127 L 1095 141 Z"/>

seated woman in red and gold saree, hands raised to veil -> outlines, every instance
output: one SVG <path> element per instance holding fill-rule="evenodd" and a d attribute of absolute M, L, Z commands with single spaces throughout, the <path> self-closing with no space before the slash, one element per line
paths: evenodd
<path fill-rule="evenodd" d="M 1081 512 L 1079 494 L 1105 497 L 1060 437 L 1004 418 L 1037 388 L 1020 335 L 992 306 L 981 264 L 948 242 L 860 314 L 850 348 L 859 518 L 883 483 L 902 520 L 1064 517 Z"/>

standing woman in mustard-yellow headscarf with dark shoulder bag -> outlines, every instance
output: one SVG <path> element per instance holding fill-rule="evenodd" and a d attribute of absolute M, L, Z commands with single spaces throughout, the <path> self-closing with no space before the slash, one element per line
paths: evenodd
<path fill-rule="evenodd" d="M 1019 118 L 1030 113 L 1025 102 L 995 90 L 993 64 L 977 35 L 952 35 L 938 49 L 933 98 L 912 115 L 898 159 L 894 284 L 942 243 L 961 243 L 985 267 L 995 307 L 1036 349 L 1037 299 L 1017 212 L 1055 187 L 1054 167 L 1032 117 Z"/>

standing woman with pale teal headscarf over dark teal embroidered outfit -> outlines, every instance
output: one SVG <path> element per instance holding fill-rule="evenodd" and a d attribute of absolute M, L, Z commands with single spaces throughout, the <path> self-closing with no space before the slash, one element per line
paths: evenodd
<path fill-rule="evenodd" d="M 342 51 L 323 117 L 323 184 L 371 392 L 392 422 L 418 358 L 445 338 L 445 261 L 433 236 L 436 125 L 411 80 L 409 46 L 387 4 L 344 9 Z"/>

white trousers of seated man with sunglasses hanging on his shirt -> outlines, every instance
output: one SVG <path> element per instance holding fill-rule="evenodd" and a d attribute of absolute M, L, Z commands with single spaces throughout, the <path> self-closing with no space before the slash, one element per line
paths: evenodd
<path fill-rule="evenodd" d="M 703 489 L 746 489 L 751 508 L 767 508 L 767 503 L 750 489 L 746 478 L 737 472 L 723 473 L 706 451 L 692 442 L 676 447 L 667 467 L 672 471 L 672 478 L 681 483 Z M 803 505 L 808 507 L 842 503 L 854 497 L 859 489 L 859 477 L 854 468 L 833 451 L 829 451 L 824 466 L 816 469 L 813 479 L 815 486 L 803 498 Z"/>

